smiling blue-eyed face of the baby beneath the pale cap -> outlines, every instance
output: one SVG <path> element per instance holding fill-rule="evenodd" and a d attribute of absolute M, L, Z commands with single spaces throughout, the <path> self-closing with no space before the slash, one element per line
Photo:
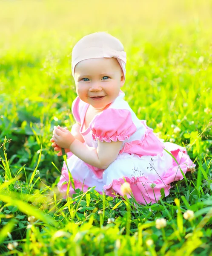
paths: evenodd
<path fill-rule="evenodd" d="M 125 79 L 116 58 L 80 61 L 74 71 L 77 95 L 95 109 L 103 110 L 113 102 Z"/>

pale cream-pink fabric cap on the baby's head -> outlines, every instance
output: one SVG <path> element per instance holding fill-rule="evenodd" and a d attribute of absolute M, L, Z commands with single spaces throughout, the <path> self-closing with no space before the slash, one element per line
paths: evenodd
<path fill-rule="evenodd" d="M 117 58 L 126 78 L 126 52 L 114 36 L 107 32 L 95 32 L 81 38 L 72 50 L 72 76 L 77 63 L 91 58 Z"/>

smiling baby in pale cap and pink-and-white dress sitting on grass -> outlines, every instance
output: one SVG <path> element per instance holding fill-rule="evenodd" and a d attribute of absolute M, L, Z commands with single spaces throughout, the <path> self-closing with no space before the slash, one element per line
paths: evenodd
<path fill-rule="evenodd" d="M 102 194 L 123 195 L 126 181 L 140 204 L 153 204 L 160 189 L 169 195 L 170 183 L 183 179 L 195 167 L 186 149 L 163 142 L 139 120 L 120 90 L 126 78 L 126 52 L 121 42 L 106 32 L 86 35 L 72 51 L 72 75 L 77 98 L 72 103 L 76 123 L 71 132 L 59 125 L 51 139 L 57 155 L 68 155 L 57 187 L 64 193 L 72 174 L 75 189 L 88 187 Z M 167 151 L 175 157 L 167 153 Z M 67 168 L 68 167 L 68 168 Z M 181 169 L 181 170 L 180 170 Z M 70 183 L 69 196 L 74 189 Z M 128 195 L 130 198 L 130 195 Z"/>

